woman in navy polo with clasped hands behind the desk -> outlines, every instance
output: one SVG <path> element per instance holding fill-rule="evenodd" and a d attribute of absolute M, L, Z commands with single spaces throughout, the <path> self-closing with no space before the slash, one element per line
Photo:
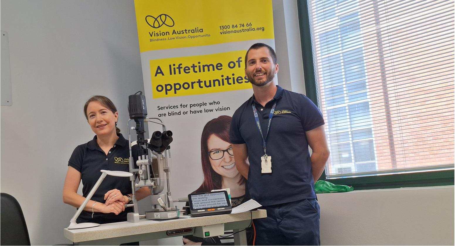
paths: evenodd
<path fill-rule="evenodd" d="M 84 105 L 84 114 L 91 130 L 96 134 L 93 140 L 77 146 L 68 161 L 63 202 L 78 208 L 95 186 L 101 170 L 129 171 L 129 143 L 117 128 L 118 112 L 109 98 L 94 95 Z M 82 196 L 77 194 L 82 180 Z M 99 224 L 126 221 L 126 214 L 132 211 L 125 204 L 131 201 L 131 181 L 125 177 L 106 176 L 88 201 L 77 223 Z M 136 191 L 136 199 L 150 195 L 147 187 Z M 137 244 L 139 245 L 139 244 Z"/>

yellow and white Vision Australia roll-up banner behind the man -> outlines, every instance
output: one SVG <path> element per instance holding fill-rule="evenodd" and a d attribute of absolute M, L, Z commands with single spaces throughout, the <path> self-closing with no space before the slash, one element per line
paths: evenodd
<path fill-rule="evenodd" d="M 242 202 L 245 180 L 229 149 L 229 128 L 253 95 L 246 51 L 258 42 L 275 46 L 272 2 L 135 0 L 135 9 L 148 116 L 174 133 L 173 198 L 230 188 L 233 205 Z"/>

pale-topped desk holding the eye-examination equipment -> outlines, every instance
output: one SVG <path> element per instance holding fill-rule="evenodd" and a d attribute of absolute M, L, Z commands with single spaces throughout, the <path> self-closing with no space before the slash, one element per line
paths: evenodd
<path fill-rule="evenodd" d="M 267 217 L 267 211 L 259 209 L 238 214 L 223 214 L 214 216 L 191 217 L 180 216 L 178 219 L 166 221 L 141 220 L 138 223 L 127 221 L 103 224 L 97 227 L 68 230 L 63 229 L 64 235 L 74 245 L 119 245 L 126 242 L 147 241 L 159 238 L 167 238 L 166 231 L 181 228 L 192 228 L 192 232 L 174 236 L 193 235 L 197 226 L 209 226 L 224 223 L 224 230 L 241 231 L 234 235 L 235 245 L 247 245 L 247 236 L 242 231 L 253 219 Z"/>

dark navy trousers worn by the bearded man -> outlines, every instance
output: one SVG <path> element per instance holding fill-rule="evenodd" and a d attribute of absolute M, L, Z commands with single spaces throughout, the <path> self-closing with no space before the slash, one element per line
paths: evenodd
<path fill-rule="evenodd" d="M 267 218 L 254 220 L 255 245 L 320 245 L 316 199 L 263 206 Z"/>

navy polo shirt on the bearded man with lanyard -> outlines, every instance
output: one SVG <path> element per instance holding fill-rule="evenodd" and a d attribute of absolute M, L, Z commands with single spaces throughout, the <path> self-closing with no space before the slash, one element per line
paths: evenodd
<path fill-rule="evenodd" d="M 267 155 L 272 156 L 272 173 L 261 173 L 263 140 L 256 126 L 252 104 L 256 105 L 265 137 L 268 116 L 277 103 L 267 137 Z M 284 90 L 277 92 L 265 107 L 254 95 L 234 113 L 230 139 L 233 144 L 248 147 L 248 191 L 263 206 L 276 205 L 306 198 L 316 198 L 308 151 L 306 131 L 324 125 L 318 107 L 305 95 Z"/>

